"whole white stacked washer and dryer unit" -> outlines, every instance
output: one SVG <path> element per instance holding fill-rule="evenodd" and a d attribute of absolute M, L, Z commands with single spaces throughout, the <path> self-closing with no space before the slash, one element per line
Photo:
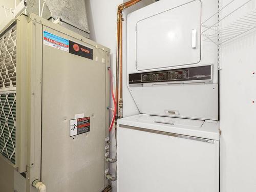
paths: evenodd
<path fill-rule="evenodd" d="M 217 9 L 161 0 L 127 16 L 127 86 L 140 114 L 118 120 L 117 191 L 219 191 L 218 49 L 201 37 Z"/>

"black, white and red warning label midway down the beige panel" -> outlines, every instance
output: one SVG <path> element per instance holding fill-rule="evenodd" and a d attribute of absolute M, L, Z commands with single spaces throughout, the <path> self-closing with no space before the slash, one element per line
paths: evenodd
<path fill-rule="evenodd" d="M 70 120 L 70 137 L 90 132 L 90 117 Z"/>

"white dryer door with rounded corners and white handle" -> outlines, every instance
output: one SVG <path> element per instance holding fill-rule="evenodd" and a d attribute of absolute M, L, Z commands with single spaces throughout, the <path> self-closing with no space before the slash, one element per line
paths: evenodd
<path fill-rule="evenodd" d="M 200 33 L 200 0 L 140 20 L 136 25 L 137 70 L 199 62 Z"/>

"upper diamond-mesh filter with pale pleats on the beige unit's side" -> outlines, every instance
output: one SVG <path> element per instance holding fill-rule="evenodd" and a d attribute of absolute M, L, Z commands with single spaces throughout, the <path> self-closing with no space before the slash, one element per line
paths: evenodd
<path fill-rule="evenodd" d="M 0 90 L 16 87 L 16 25 L 0 37 Z"/>

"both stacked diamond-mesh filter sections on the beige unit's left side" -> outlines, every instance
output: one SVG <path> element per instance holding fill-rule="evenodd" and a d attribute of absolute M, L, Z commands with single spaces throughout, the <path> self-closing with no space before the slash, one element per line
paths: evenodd
<path fill-rule="evenodd" d="M 16 25 L 0 36 L 0 153 L 14 165 L 16 142 Z"/>

